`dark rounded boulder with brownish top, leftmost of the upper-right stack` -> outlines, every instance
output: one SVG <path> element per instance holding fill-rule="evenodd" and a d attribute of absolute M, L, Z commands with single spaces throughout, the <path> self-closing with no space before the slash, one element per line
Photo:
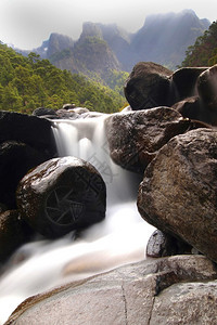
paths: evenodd
<path fill-rule="evenodd" d="M 135 110 L 168 106 L 173 72 L 152 62 L 135 65 L 125 84 L 125 96 Z"/>

